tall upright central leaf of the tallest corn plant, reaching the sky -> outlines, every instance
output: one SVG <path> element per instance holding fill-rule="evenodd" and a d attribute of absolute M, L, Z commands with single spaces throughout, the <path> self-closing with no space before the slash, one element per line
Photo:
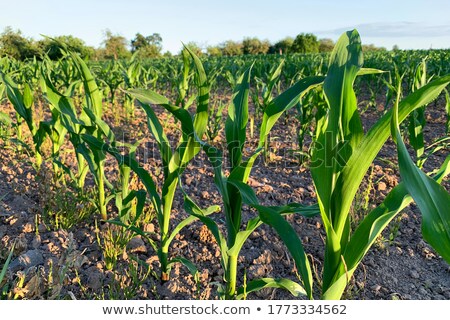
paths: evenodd
<path fill-rule="evenodd" d="M 318 123 L 312 154 L 311 175 L 327 232 L 323 288 L 328 289 L 348 241 L 348 211 L 333 203 L 336 181 L 364 132 L 358 114 L 353 83 L 363 63 L 361 40 L 356 30 L 344 33 L 330 56 L 324 81 L 328 114 Z M 359 181 L 357 182 L 359 185 Z M 353 199 L 353 198 L 352 198 Z M 340 199 L 336 199 L 336 202 Z M 329 271 L 331 270 L 331 272 Z"/>

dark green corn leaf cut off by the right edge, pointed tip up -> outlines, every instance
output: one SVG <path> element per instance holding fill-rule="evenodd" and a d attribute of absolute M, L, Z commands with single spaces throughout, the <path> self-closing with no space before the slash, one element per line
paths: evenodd
<path fill-rule="evenodd" d="M 450 263 L 450 194 L 412 162 L 399 129 L 398 105 L 392 113 L 392 136 L 398 150 L 400 177 L 422 213 L 424 239 Z"/>

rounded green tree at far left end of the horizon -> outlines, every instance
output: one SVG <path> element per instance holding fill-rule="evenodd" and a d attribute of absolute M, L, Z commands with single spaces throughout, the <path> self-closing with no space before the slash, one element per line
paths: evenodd
<path fill-rule="evenodd" d="M 6 27 L 0 35 L 0 55 L 26 60 L 39 56 L 40 52 L 33 40 L 23 37 L 20 30 L 14 31 L 11 27 Z"/>

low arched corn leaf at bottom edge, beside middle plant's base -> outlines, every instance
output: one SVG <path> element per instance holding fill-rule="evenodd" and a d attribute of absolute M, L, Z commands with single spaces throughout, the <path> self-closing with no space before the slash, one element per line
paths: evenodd
<path fill-rule="evenodd" d="M 237 290 L 236 299 L 241 300 L 244 294 L 256 292 L 264 288 L 279 288 L 288 290 L 294 297 L 306 296 L 305 289 L 298 283 L 289 279 L 261 278 L 249 281 L 244 289 L 240 287 Z"/>

